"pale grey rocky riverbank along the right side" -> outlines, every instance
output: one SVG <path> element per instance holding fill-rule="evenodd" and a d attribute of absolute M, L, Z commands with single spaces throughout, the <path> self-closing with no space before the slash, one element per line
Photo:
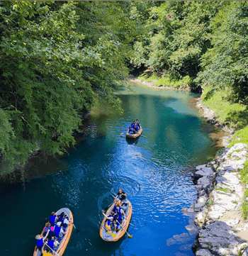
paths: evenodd
<path fill-rule="evenodd" d="M 248 223 L 242 216 L 244 184 L 240 181 L 239 169 L 244 168 L 248 148 L 244 143 L 227 147 L 234 130 L 218 123 L 215 113 L 201 104 L 203 116 L 208 123 L 225 130 L 222 138 L 225 148 L 207 165 L 196 167 L 192 174 L 198 200 L 186 214 L 194 214 L 198 228 L 192 250 L 197 256 L 248 255 Z"/>

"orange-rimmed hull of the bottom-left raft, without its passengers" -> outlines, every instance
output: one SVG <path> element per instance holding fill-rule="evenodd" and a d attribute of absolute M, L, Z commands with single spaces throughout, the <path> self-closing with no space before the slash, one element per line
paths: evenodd
<path fill-rule="evenodd" d="M 59 216 L 60 213 L 64 212 L 64 214 L 67 214 L 71 221 L 73 222 L 73 216 L 72 216 L 72 211 L 69 210 L 69 208 L 61 208 L 59 211 L 57 211 L 56 215 Z M 73 224 L 69 224 L 67 226 L 67 229 L 65 230 L 65 235 L 63 236 L 62 240 L 60 240 L 60 245 L 57 248 L 55 252 L 44 252 L 43 253 L 38 250 L 38 247 L 35 246 L 35 250 L 33 252 L 33 256 L 41 256 L 41 255 L 49 255 L 49 256 L 62 256 L 64 253 L 65 248 L 67 247 L 67 244 L 69 243 L 69 238 L 71 238 L 72 235 L 72 230 L 73 230 Z M 41 236 L 43 235 L 43 232 L 41 233 Z"/>

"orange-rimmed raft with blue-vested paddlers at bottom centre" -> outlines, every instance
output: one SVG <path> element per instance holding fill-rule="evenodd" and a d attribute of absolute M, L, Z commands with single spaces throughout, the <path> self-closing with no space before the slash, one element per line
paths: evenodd
<path fill-rule="evenodd" d="M 120 208 L 120 201 L 117 202 L 113 202 L 113 204 L 108 208 L 108 210 L 106 211 L 106 214 L 103 213 L 104 218 L 103 221 L 101 222 L 101 226 L 100 226 L 100 236 L 103 240 L 107 241 L 107 242 L 115 242 L 117 240 L 119 240 L 120 238 L 123 237 L 123 235 L 125 235 L 125 233 L 128 234 L 127 229 L 132 217 L 132 212 L 133 212 L 133 207 L 132 204 L 130 203 L 130 201 L 128 199 L 125 200 L 125 203 L 121 205 L 121 208 L 119 211 L 121 211 L 123 213 L 123 218 L 120 221 L 120 219 L 118 220 L 117 218 L 117 223 L 119 224 L 119 230 L 116 230 L 115 232 L 115 227 L 113 225 L 113 221 L 111 223 L 111 221 L 108 220 L 108 216 L 111 216 L 111 213 L 113 212 L 114 208 Z M 109 223 L 108 223 L 109 221 Z M 118 222 L 119 221 L 119 222 Z M 108 224 L 110 228 L 108 228 Z M 132 236 L 130 234 L 128 234 L 128 237 L 132 238 Z"/>

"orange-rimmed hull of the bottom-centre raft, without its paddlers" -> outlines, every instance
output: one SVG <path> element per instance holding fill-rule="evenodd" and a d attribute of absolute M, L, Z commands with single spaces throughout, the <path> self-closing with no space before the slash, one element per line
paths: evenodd
<path fill-rule="evenodd" d="M 106 212 L 106 216 L 110 215 L 111 211 L 113 210 L 113 206 L 114 204 L 112 204 L 112 206 L 108 208 L 108 211 Z M 125 217 L 126 217 L 125 220 L 121 223 L 121 226 L 123 226 L 123 228 L 127 230 L 131 220 L 133 207 L 130 201 L 127 200 L 126 205 L 123 204 L 121 208 L 123 208 L 123 211 L 125 212 Z M 106 217 L 104 217 L 100 227 L 100 236 L 103 240 L 108 242 L 115 242 L 120 238 L 122 238 L 123 235 L 125 235 L 125 230 L 123 228 L 120 228 L 120 230 L 118 230 L 116 234 L 108 232 L 108 230 L 106 230 L 105 228 L 106 221 L 107 219 Z"/>

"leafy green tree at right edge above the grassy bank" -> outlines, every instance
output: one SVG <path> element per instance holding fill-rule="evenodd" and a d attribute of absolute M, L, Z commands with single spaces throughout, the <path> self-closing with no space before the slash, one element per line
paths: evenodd
<path fill-rule="evenodd" d="M 246 1 L 231 1 L 213 18 L 212 45 L 202 57 L 203 72 L 195 80 L 211 93 L 226 89 L 227 99 L 235 103 L 248 102 L 247 87 L 247 21 Z M 238 118 L 238 114 L 236 118 Z"/>

